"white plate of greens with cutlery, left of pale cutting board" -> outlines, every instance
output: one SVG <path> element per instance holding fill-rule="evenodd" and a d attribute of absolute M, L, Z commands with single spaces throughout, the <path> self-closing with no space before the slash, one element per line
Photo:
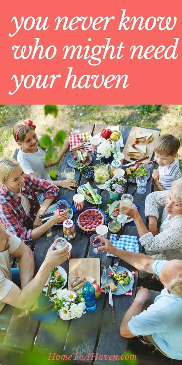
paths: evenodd
<path fill-rule="evenodd" d="M 56 266 L 51 270 L 50 276 L 48 277 L 48 280 L 46 281 L 46 284 L 45 284 L 44 288 L 42 289 L 43 292 L 47 292 L 47 288 L 49 287 L 49 283 L 50 283 L 52 274 L 54 274 L 55 278 L 52 282 L 51 294 L 54 294 L 56 292 L 56 290 L 58 290 L 60 288 L 62 289 L 66 285 L 67 280 L 68 280 L 66 271 L 61 266 Z"/>

